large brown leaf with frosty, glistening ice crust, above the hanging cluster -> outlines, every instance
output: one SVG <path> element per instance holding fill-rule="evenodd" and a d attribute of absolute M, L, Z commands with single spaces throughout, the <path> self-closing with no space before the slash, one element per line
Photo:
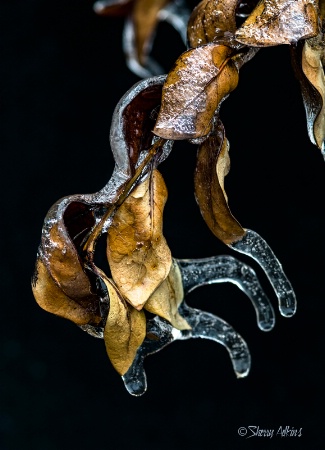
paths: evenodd
<path fill-rule="evenodd" d="M 164 139 L 206 136 L 221 102 L 238 84 L 232 50 L 207 44 L 183 53 L 169 72 L 154 133 Z"/>

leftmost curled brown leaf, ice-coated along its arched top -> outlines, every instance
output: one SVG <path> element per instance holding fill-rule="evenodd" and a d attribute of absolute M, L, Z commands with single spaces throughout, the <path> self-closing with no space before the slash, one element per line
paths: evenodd
<path fill-rule="evenodd" d="M 47 311 L 78 325 L 98 324 L 100 300 L 75 247 L 75 242 L 94 224 L 92 210 L 76 201 L 80 197 L 61 199 L 49 210 L 42 230 L 33 291 L 38 304 Z"/>

